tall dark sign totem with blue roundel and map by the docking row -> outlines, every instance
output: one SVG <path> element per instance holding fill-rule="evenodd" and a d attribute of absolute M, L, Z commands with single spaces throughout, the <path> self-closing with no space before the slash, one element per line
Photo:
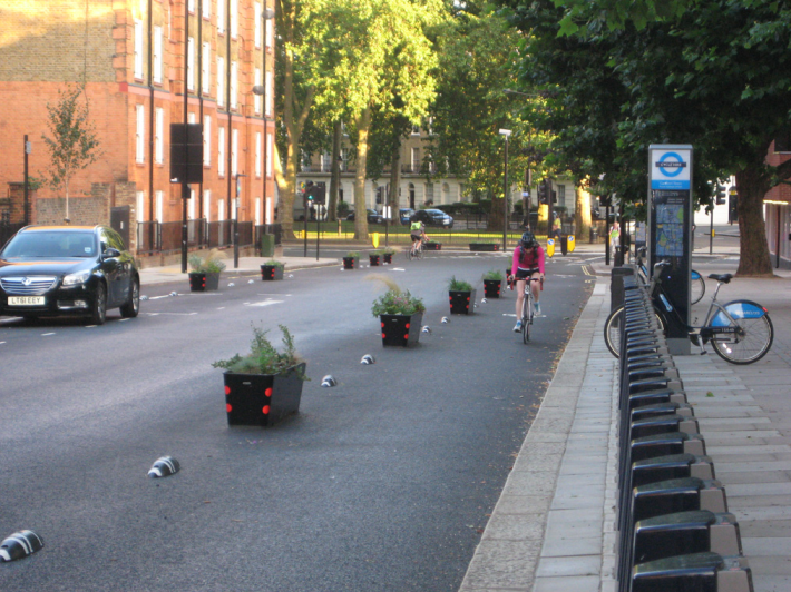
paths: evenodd
<path fill-rule="evenodd" d="M 660 260 L 662 285 L 690 324 L 690 273 L 692 269 L 692 146 L 648 146 L 648 269 Z M 672 355 L 690 355 L 687 329 L 668 316 L 667 347 Z"/>

